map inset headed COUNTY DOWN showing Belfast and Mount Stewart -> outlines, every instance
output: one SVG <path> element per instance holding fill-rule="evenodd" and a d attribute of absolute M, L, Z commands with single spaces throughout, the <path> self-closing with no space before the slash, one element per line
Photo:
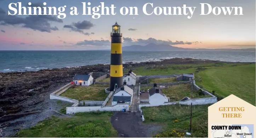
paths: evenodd
<path fill-rule="evenodd" d="M 254 138 L 253 130 L 253 124 L 214 124 L 211 138 Z"/>

